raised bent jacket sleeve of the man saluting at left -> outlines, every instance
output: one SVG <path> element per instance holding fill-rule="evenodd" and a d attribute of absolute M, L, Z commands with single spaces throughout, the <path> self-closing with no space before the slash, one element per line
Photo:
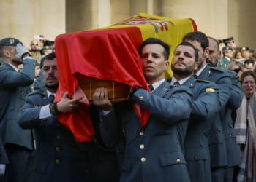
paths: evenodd
<path fill-rule="evenodd" d="M 2 66 L 0 68 L 0 87 L 26 87 L 33 84 L 36 63 L 36 60 L 23 60 L 22 72 Z"/>

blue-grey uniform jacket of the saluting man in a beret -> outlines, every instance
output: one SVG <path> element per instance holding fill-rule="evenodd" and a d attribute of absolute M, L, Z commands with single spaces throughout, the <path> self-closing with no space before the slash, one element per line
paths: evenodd
<path fill-rule="evenodd" d="M 3 145 L 15 143 L 34 149 L 32 130 L 23 130 L 17 124 L 20 108 L 25 104 L 28 86 L 34 82 L 36 60 L 23 60 L 22 72 L 8 63 L 0 66 L 0 135 Z"/>

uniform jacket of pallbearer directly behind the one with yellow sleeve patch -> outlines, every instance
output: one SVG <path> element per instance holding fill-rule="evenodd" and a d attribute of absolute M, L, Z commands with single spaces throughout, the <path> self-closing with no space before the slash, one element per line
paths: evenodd
<path fill-rule="evenodd" d="M 206 65 L 206 68 L 203 69 L 197 79 L 214 82 L 219 87 L 220 107 L 218 114 L 214 118 L 214 122 L 211 124 L 208 134 L 208 145 L 211 155 L 211 167 L 227 166 L 226 143 L 221 119 L 232 91 L 230 76 L 225 70 L 211 68 Z"/>

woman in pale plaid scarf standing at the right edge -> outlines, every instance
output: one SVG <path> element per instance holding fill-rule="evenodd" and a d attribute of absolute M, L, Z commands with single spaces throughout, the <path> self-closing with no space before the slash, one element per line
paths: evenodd
<path fill-rule="evenodd" d="M 240 149 L 242 163 L 239 165 L 238 182 L 251 182 L 256 179 L 256 74 L 244 71 L 241 75 L 243 101 L 236 111 L 236 140 Z"/>

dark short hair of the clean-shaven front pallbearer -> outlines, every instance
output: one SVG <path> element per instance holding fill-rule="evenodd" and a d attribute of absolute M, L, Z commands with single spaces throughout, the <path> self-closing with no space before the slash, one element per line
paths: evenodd
<path fill-rule="evenodd" d="M 145 47 L 147 44 L 160 44 L 160 45 L 162 45 L 162 47 L 164 47 L 163 55 L 165 57 L 165 60 L 169 59 L 170 45 L 166 44 L 165 42 L 163 42 L 162 40 L 157 39 L 157 38 L 148 38 L 148 39 L 146 39 L 146 41 L 143 41 L 143 43 L 140 45 L 140 57 L 142 56 L 143 47 Z"/>

